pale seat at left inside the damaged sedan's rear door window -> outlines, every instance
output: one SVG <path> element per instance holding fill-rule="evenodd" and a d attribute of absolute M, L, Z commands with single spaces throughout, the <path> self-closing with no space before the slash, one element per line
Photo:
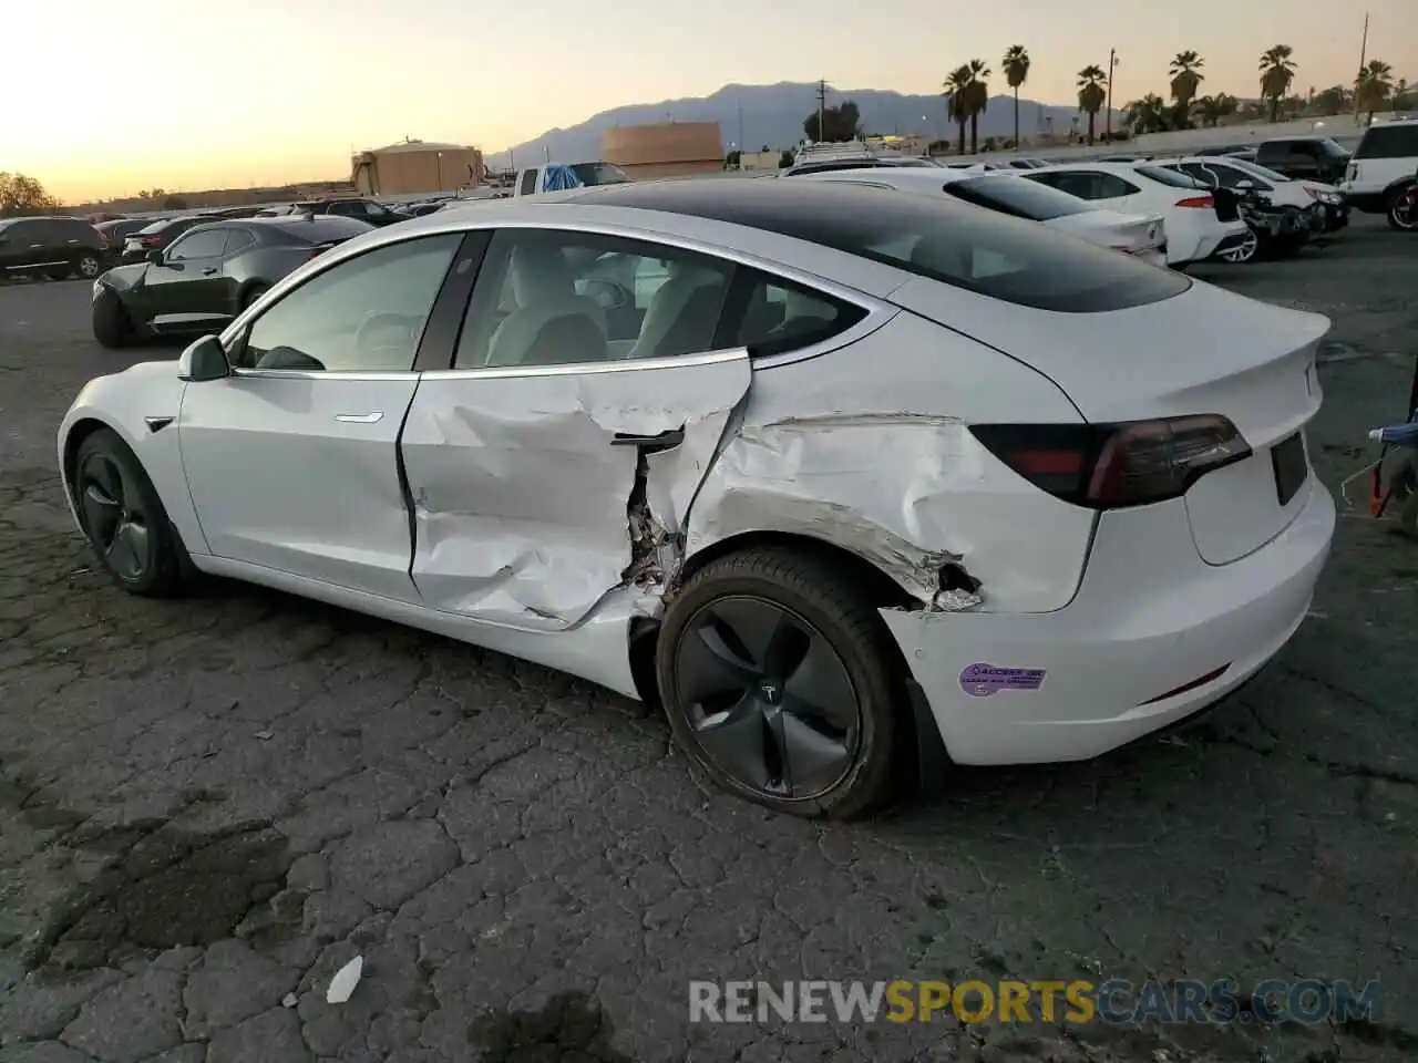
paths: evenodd
<path fill-rule="evenodd" d="M 605 360 L 605 312 L 576 293 L 576 274 L 560 248 L 520 244 L 508 269 L 518 309 L 488 342 L 489 367 Z"/>

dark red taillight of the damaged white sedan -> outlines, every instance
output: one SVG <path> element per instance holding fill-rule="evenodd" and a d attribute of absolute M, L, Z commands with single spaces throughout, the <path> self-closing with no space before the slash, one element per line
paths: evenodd
<path fill-rule="evenodd" d="M 988 424 L 970 432 L 1041 490 L 1089 509 L 1180 497 L 1205 473 L 1251 455 L 1219 414 L 1102 425 Z"/>

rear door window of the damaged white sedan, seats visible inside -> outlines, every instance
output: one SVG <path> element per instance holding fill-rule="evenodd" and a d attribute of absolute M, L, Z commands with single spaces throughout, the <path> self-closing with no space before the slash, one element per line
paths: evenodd
<path fill-rule="evenodd" d="M 733 265 L 587 232 L 501 230 L 458 339 L 457 369 L 665 359 L 715 349 Z"/>

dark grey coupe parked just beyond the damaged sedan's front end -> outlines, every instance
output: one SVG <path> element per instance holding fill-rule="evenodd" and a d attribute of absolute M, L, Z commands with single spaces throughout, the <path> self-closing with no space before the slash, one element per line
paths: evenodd
<path fill-rule="evenodd" d="M 122 347 L 150 336 L 220 332 L 282 276 L 372 227 L 291 215 L 194 225 L 167 248 L 94 282 L 94 337 Z"/>

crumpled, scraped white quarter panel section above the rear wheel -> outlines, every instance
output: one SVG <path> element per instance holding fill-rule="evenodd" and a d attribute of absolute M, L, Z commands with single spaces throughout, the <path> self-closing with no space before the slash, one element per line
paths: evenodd
<path fill-rule="evenodd" d="M 1045 550 L 1041 517 L 1055 532 Z M 686 551 L 744 532 L 841 546 L 930 609 L 1044 612 L 1078 585 L 1092 514 L 1055 505 L 954 418 L 827 414 L 747 424 L 725 448 L 695 500 Z M 943 590 L 950 566 L 978 592 Z"/>

